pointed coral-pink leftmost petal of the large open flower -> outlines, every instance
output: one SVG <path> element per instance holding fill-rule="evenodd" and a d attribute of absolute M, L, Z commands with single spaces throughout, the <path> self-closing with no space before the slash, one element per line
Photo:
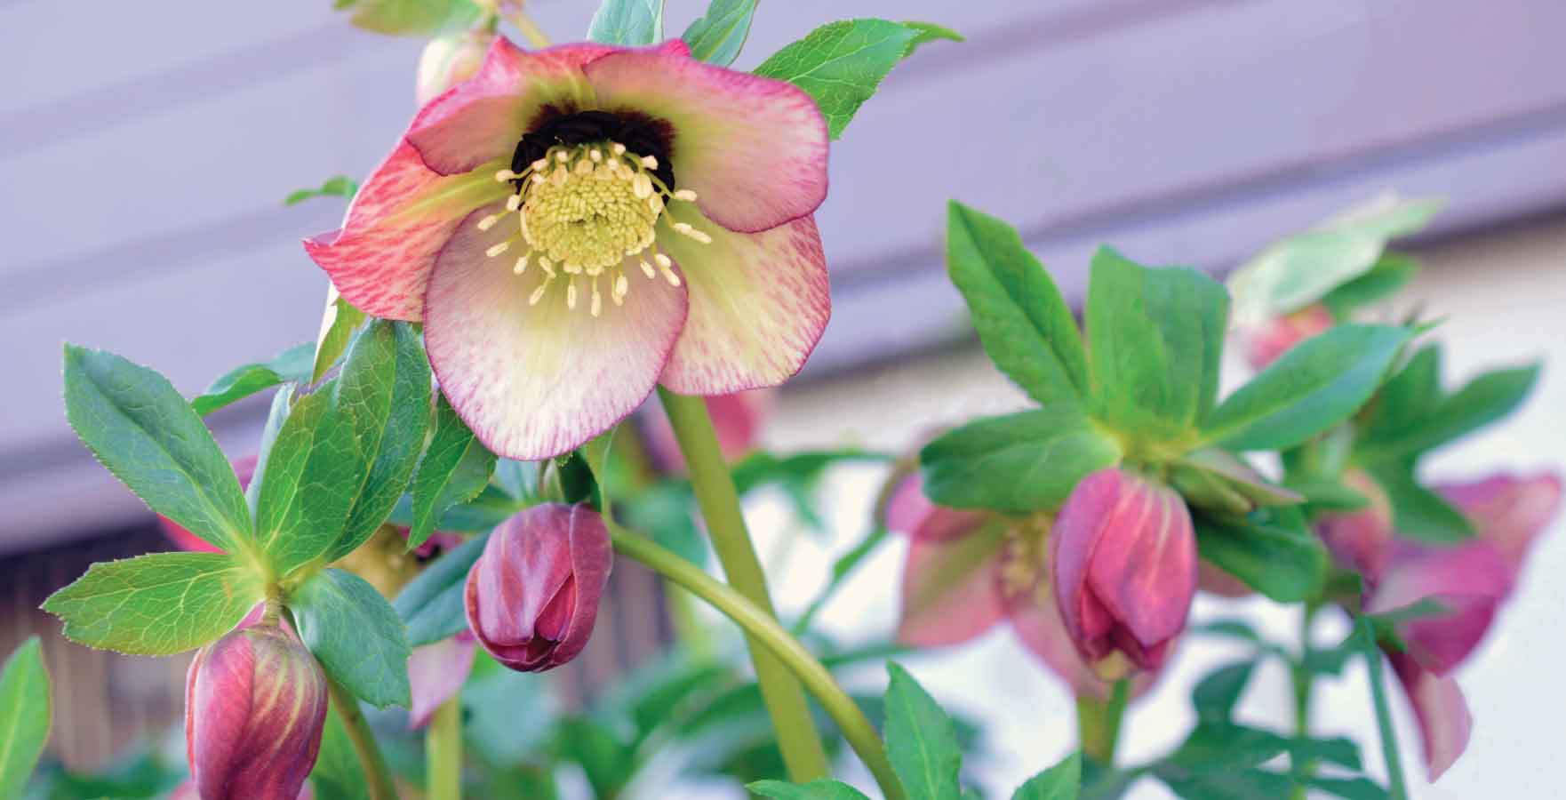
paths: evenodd
<path fill-rule="evenodd" d="M 359 189 L 343 227 L 305 240 L 304 249 L 355 308 L 420 321 L 429 271 L 457 222 L 509 189 L 493 175 L 506 164 L 493 166 L 440 177 L 399 142 Z"/>

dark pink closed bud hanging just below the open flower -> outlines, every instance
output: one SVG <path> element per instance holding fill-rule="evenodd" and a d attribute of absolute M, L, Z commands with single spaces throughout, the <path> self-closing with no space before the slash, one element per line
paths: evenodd
<path fill-rule="evenodd" d="M 490 534 L 468 571 L 468 626 L 514 670 L 559 667 L 587 647 L 612 562 L 598 512 L 559 503 L 526 509 Z"/>

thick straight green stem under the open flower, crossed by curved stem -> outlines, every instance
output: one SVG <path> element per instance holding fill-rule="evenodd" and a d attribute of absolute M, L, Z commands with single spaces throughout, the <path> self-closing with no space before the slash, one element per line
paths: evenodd
<path fill-rule="evenodd" d="M 772 609 L 772 596 L 767 595 L 767 579 L 756 559 L 756 548 L 750 543 L 734 477 L 717 446 L 706 401 L 675 395 L 662 387 L 658 388 L 658 399 L 662 401 L 669 424 L 675 429 L 675 440 L 684 454 L 697 504 L 702 507 L 708 534 L 713 537 L 713 550 L 723 564 L 728 584 L 775 625 L 777 612 Z M 827 751 L 821 747 L 821 734 L 816 731 L 816 720 L 810 715 L 799 681 L 755 634 L 747 637 L 747 643 L 750 662 L 756 668 L 756 683 L 761 686 L 761 700 L 772 715 L 772 730 L 777 733 L 789 778 L 794 783 L 810 783 L 827 777 Z"/>

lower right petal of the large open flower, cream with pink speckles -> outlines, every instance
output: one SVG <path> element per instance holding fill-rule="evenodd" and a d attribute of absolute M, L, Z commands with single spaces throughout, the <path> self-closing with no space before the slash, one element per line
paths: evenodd
<path fill-rule="evenodd" d="M 691 288 L 691 318 L 662 384 L 681 395 L 727 395 L 775 387 L 799 373 L 832 316 L 816 221 L 733 233 L 687 204 L 673 204 L 666 216 L 706 232 L 713 243 L 667 227 L 658 233 Z"/>

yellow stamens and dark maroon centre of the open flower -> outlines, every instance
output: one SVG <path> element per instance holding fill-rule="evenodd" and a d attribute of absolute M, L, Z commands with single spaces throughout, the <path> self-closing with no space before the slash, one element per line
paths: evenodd
<path fill-rule="evenodd" d="M 695 193 L 675 189 L 673 172 L 658 155 L 633 152 L 611 138 L 583 141 L 584 135 L 626 130 L 625 124 L 606 128 L 598 117 L 617 119 L 586 113 L 564 117 L 565 122 L 557 119 L 543 133 L 529 133 L 517 146 L 512 169 L 495 174 L 496 182 L 511 183 L 515 193 L 507 197 L 504 213 L 479 219 L 478 227 L 490 230 L 501 219 L 517 216 L 517 233 L 492 246 L 487 255 L 496 258 L 512 247 L 525 249 L 512 272 L 526 274 L 532 265 L 543 272 L 543 280 L 528 296 L 531 305 L 543 301 L 553 286 L 564 285 L 567 308 L 576 308 L 578 296 L 586 291 L 586 305 L 598 316 L 603 286 L 615 305 L 625 304 L 631 291 L 630 265 L 639 266 L 648 279 L 662 276 L 669 285 L 680 285 L 673 261 L 658 247 L 658 219 L 667 204 L 694 202 Z M 586 130 L 578 130 L 584 125 Z M 540 136 L 553 144 L 545 146 Z M 636 139 L 644 147 L 658 147 L 647 136 Z M 521 163 L 531 155 L 536 158 Z M 670 229 L 703 244 L 713 241 L 687 222 L 675 222 Z"/>

